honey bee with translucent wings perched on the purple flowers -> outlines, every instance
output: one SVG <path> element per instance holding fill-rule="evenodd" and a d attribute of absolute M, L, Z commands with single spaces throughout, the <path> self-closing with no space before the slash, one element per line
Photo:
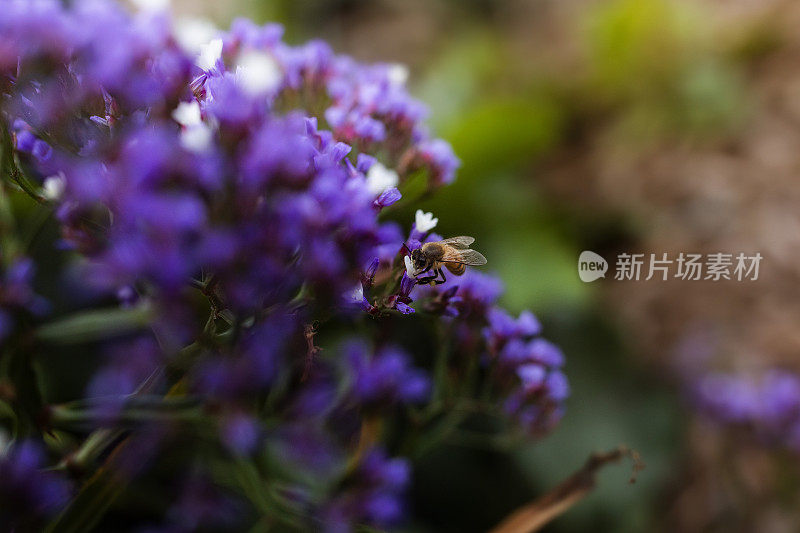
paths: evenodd
<path fill-rule="evenodd" d="M 467 270 L 467 265 L 485 265 L 486 258 L 480 252 L 469 248 L 473 242 L 475 242 L 474 237 L 466 236 L 426 242 L 421 248 L 411 252 L 410 270 L 413 270 L 414 277 L 419 283 L 439 285 L 447 281 L 442 271 L 443 266 L 456 276 L 460 276 Z M 433 274 L 418 277 L 426 272 Z"/>

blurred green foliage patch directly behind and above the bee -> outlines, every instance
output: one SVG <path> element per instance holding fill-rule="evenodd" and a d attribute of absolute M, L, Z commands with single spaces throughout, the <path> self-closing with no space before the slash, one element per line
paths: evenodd
<path fill-rule="evenodd" d="M 580 305 L 586 287 L 574 275 L 566 228 L 536 190 L 533 164 L 563 139 L 565 109 L 550 90 L 503 84 L 509 63 L 490 34 L 467 34 L 428 69 L 420 97 L 437 133 L 462 160 L 456 182 L 422 207 L 444 235 L 479 239 L 489 268 L 507 284 L 512 309 Z"/>

